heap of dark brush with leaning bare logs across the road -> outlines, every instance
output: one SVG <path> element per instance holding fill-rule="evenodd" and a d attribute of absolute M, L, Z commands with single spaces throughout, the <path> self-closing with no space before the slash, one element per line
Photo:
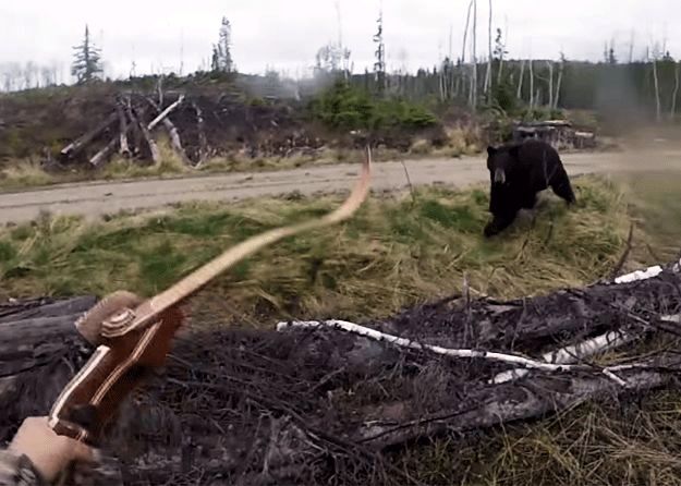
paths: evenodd
<path fill-rule="evenodd" d="M 119 94 L 111 105 L 98 125 L 60 150 L 59 165 L 87 162 L 100 168 L 115 154 L 139 165 L 158 165 L 159 130 L 177 157 L 193 168 L 217 155 L 283 158 L 314 155 L 323 146 L 287 107 L 160 90 Z"/>

